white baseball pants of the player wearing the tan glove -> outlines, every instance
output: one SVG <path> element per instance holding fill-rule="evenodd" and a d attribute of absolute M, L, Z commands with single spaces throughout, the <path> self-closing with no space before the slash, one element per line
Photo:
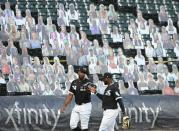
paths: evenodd
<path fill-rule="evenodd" d="M 116 118 L 119 114 L 118 109 L 107 109 L 103 112 L 103 118 L 99 131 L 114 131 Z"/>

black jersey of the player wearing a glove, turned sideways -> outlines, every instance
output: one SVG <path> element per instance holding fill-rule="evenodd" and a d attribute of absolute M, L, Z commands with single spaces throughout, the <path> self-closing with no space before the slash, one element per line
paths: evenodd
<path fill-rule="evenodd" d="M 111 84 L 104 91 L 102 98 L 103 109 L 117 109 L 117 100 L 121 98 L 118 83 Z"/>

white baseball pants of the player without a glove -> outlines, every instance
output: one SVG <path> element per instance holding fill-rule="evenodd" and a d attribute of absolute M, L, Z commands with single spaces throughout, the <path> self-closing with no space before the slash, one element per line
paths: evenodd
<path fill-rule="evenodd" d="M 92 104 L 86 103 L 83 105 L 75 105 L 70 118 L 70 128 L 75 129 L 78 122 L 81 122 L 81 129 L 88 129 L 89 118 L 91 115 Z"/>

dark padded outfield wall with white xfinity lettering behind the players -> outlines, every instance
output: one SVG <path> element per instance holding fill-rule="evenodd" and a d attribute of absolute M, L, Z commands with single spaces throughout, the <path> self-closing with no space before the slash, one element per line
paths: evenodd
<path fill-rule="evenodd" d="M 58 112 L 65 97 L 1 97 L 0 130 L 70 131 L 70 114 L 75 103 L 71 103 L 65 113 Z M 131 118 L 131 129 L 179 129 L 179 97 L 123 96 L 123 101 Z M 89 129 L 97 131 L 103 110 L 96 96 L 92 97 L 92 105 Z M 116 120 L 115 128 L 121 128 L 121 115 Z"/>

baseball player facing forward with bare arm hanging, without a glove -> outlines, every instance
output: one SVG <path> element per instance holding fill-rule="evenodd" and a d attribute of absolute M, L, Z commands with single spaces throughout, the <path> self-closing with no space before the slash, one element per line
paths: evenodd
<path fill-rule="evenodd" d="M 80 67 L 78 70 L 79 78 L 74 80 L 71 83 L 71 87 L 69 90 L 69 94 L 66 97 L 63 107 L 60 111 L 63 113 L 67 106 L 75 97 L 75 107 L 72 110 L 71 118 L 70 118 L 70 128 L 73 131 L 87 131 L 88 130 L 88 122 L 91 115 L 91 92 L 89 88 L 94 85 L 85 78 L 86 68 Z M 78 122 L 81 123 L 81 129 L 78 127 Z"/>

